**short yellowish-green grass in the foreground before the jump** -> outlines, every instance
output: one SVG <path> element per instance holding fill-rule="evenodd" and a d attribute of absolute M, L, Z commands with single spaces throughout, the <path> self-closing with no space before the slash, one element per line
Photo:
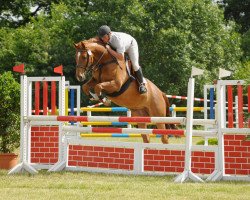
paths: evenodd
<path fill-rule="evenodd" d="M 173 176 L 132 176 L 98 173 L 7 175 L 0 171 L 0 199 L 249 200 L 249 182 L 174 183 Z"/>

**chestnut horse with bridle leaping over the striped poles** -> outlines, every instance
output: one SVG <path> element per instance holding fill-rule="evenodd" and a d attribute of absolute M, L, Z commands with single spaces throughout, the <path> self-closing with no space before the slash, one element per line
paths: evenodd
<path fill-rule="evenodd" d="M 82 86 L 84 93 L 90 96 L 90 90 L 101 98 L 105 95 L 112 102 L 131 110 L 132 116 L 170 116 L 169 101 L 150 80 L 146 79 L 147 93 L 140 94 L 138 83 L 132 79 L 126 69 L 125 61 L 118 61 L 108 53 L 105 44 L 99 38 L 91 38 L 75 44 L 76 78 L 86 81 L 86 74 L 92 78 Z M 139 123 L 139 128 L 146 128 L 146 123 Z M 158 129 L 165 129 L 165 124 L 156 124 Z M 143 141 L 149 143 L 149 135 L 142 134 Z M 168 143 L 168 136 L 162 135 L 163 143 Z"/>

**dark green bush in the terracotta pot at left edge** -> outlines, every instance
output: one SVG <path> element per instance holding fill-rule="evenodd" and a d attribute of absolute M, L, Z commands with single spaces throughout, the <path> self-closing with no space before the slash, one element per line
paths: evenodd
<path fill-rule="evenodd" d="M 20 141 L 20 85 L 11 72 L 0 75 L 0 152 L 11 153 Z"/>

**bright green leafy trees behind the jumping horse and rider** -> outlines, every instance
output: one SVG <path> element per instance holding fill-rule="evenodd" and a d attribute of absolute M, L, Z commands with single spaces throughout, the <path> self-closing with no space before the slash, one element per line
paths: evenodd
<path fill-rule="evenodd" d="M 196 96 L 217 78 L 219 67 L 240 67 L 240 35 L 210 0 L 63 2 L 25 26 L 0 29 L 0 73 L 25 63 L 29 75 L 52 75 L 53 67 L 63 64 L 75 84 L 73 43 L 94 37 L 102 24 L 137 39 L 145 76 L 168 94 L 186 95 L 192 66 L 208 71 L 197 80 Z"/>

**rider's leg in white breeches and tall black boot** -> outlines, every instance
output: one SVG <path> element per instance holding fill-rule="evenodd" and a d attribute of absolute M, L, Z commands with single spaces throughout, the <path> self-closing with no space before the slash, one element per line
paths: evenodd
<path fill-rule="evenodd" d="M 132 62 L 132 67 L 135 72 L 136 79 L 139 82 L 139 92 L 141 94 L 146 93 L 147 88 L 145 86 L 142 69 L 139 65 L 139 52 L 138 52 L 138 45 L 137 45 L 136 40 L 133 40 L 132 46 L 128 50 L 128 55 Z"/>

